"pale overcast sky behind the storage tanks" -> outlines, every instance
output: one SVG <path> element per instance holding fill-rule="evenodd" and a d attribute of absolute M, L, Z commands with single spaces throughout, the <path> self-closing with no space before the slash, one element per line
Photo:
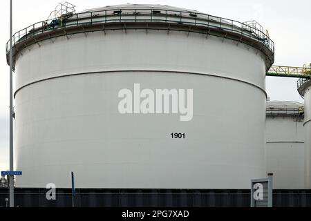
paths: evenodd
<path fill-rule="evenodd" d="M 65 0 L 64 0 L 65 1 Z M 189 8 L 237 21 L 256 20 L 267 29 L 275 43 L 275 65 L 303 66 L 311 62 L 310 0 L 68 0 L 77 11 L 122 3 L 154 3 Z M 13 32 L 48 18 L 62 0 L 13 0 Z M 0 35 L 0 171 L 8 169 L 8 84 L 9 68 L 5 47 L 9 35 L 10 1 L 1 0 Z M 267 77 L 267 93 L 272 100 L 303 102 L 296 90 L 296 80 Z"/>

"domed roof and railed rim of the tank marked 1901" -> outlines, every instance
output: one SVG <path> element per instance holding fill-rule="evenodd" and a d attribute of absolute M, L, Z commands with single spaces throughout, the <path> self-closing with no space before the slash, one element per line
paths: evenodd
<path fill-rule="evenodd" d="M 221 37 L 246 44 L 263 52 L 266 70 L 274 63 L 274 42 L 258 29 L 256 23 L 243 23 L 164 5 L 122 4 L 91 8 L 78 13 L 67 13 L 57 19 L 39 21 L 16 32 L 12 39 L 13 68 L 17 55 L 32 44 L 55 37 L 86 32 L 111 30 L 164 30 Z M 10 42 L 6 44 L 7 62 L 10 64 Z"/>

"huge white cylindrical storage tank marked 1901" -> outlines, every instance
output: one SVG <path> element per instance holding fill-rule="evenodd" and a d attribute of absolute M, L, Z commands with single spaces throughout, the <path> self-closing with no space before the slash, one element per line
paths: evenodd
<path fill-rule="evenodd" d="M 256 26 L 128 4 L 22 36 L 14 46 L 17 186 L 69 187 L 71 171 L 78 188 L 248 189 L 265 177 L 274 46 Z M 185 121 L 174 96 L 178 114 L 133 110 L 142 90 L 164 89 L 193 92 Z M 133 114 L 120 111 L 124 91 L 133 93 L 124 105 Z"/>

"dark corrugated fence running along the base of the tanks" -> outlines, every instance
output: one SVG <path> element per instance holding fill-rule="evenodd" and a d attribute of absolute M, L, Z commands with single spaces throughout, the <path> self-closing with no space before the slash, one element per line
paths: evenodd
<path fill-rule="evenodd" d="M 57 189 L 56 200 L 46 200 L 46 189 L 15 189 L 15 206 L 69 207 L 71 189 Z M 75 206 L 80 207 L 249 207 L 250 191 L 196 189 L 76 189 Z M 6 206 L 8 189 L 0 189 L 0 206 Z M 311 190 L 274 190 L 273 204 L 311 206 Z"/>

